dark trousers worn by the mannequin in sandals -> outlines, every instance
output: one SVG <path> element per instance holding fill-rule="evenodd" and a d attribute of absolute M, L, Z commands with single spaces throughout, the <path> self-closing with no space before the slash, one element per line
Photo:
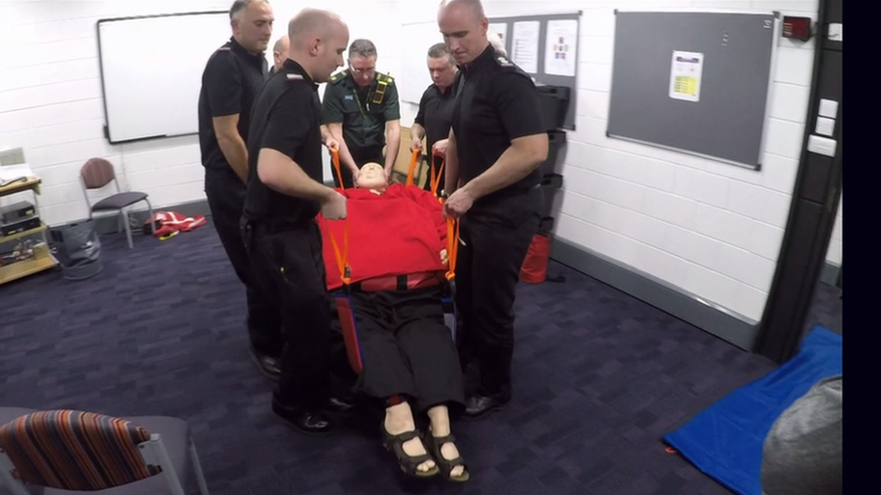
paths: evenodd
<path fill-rule="evenodd" d="M 361 348 L 356 390 L 408 396 L 414 411 L 464 406 L 462 370 L 439 289 L 351 293 Z"/>

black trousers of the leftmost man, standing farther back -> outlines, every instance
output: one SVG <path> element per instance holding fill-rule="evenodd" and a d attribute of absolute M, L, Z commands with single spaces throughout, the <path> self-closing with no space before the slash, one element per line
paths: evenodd
<path fill-rule="evenodd" d="M 208 197 L 211 220 L 236 276 L 245 284 L 251 344 L 257 353 L 277 358 L 282 353 L 282 321 L 278 309 L 261 296 L 239 231 L 246 193 L 245 183 L 232 169 L 205 170 L 205 196 Z"/>

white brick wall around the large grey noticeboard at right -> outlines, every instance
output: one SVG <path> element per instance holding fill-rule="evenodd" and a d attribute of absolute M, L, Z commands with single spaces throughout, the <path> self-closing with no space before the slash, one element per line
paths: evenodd
<path fill-rule="evenodd" d="M 577 130 L 567 136 L 556 234 L 760 319 L 802 148 L 814 42 L 780 40 L 765 160 L 756 172 L 606 137 L 613 11 L 780 10 L 816 19 L 817 0 L 485 0 L 484 5 L 488 16 L 583 11 Z M 436 8 L 436 2 L 399 5 L 408 22 L 431 21 Z M 409 125 L 415 108 L 404 106 L 403 125 Z"/>

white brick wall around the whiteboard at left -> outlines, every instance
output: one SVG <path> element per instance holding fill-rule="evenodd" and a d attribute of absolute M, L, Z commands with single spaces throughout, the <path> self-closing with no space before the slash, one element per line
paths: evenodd
<path fill-rule="evenodd" d="M 370 24 L 381 25 L 378 17 L 391 10 L 383 4 L 331 0 L 324 6 L 345 17 L 352 39 L 376 42 L 380 70 L 397 73 L 401 51 L 394 43 L 395 31 Z M 121 186 L 147 192 L 154 207 L 204 198 L 196 136 L 123 145 L 104 138 L 96 23 L 124 15 L 226 10 L 230 5 L 232 0 L 0 1 L 0 150 L 24 148 L 43 180 L 42 215 L 50 225 L 88 215 L 78 174 L 92 157 L 113 162 Z M 274 0 L 272 5 L 274 43 L 305 4 Z M 187 42 L 186 32 L 160 35 Z M 218 40 L 218 46 L 224 41 Z M 268 58 L 272 60 L 271 53 Z"/>

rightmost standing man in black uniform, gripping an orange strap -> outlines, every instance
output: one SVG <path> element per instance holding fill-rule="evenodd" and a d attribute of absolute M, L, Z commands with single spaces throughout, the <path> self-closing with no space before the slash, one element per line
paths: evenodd
<path fill-rule="evenodd" d="M 515 286 L 541 221 L 548 136 L 532 78 L 489 45 L 482 5 L 444 2 L 438 25 L 459 63 L 444 213 L 460 218 L 461 351 L 480 373 L 465 414 L 479 417 L 511 399 Z"/>

